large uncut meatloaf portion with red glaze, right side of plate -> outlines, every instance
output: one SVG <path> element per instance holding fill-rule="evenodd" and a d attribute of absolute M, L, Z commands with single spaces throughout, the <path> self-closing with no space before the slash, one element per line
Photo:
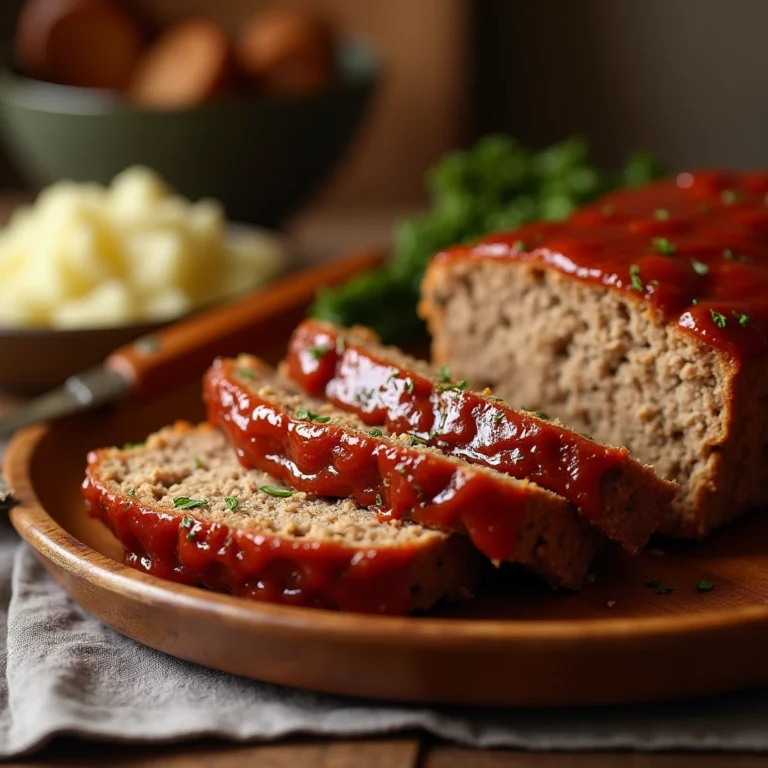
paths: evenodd
<path fill-rule="evenodd" d="M 701 537 L 768 502 L 767 174 L 694 173 L 439 254 L 433 356 L 628 446 Z"/>

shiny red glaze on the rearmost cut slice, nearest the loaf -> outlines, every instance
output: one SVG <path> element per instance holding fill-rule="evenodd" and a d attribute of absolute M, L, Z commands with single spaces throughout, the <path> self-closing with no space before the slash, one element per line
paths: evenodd
<path fill-rule="evenodd" d="M 366 424 L 415 434 L 450 455 L 534 480 L 595 522 L 604 513 L 603 478 L 632 461 L 626 448 L 600 445 L 493 397 L 446 389 L 450 383 L 421 376 L 327 323 L 307 320 L 296 329 L 286 368 L 306 391 L 324 392 Z M 674 497 L 671 484 L 667 495 Z"/>

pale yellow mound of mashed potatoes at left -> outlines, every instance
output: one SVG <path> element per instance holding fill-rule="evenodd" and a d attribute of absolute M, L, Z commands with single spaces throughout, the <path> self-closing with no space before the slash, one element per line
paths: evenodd
<path fill-rule="evenodd" d="M 259 285 L 282 262 L 265 237 L 228 237 L 218 203 L 190 203 L 146 168 L 107 189 L 59 182 L 0 231 L 0 326 L 167 320 Z"/>

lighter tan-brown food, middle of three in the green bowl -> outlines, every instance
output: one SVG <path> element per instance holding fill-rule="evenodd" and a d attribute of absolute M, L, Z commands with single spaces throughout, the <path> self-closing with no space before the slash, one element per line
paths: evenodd
<path fill-rule="evenodd" d="M 219 92 L 228 79 L 229 42 L 208 19 L 171 27 L 147 51 L 129 94 L 136 104 L 159 109 L 195 106 Z"/>

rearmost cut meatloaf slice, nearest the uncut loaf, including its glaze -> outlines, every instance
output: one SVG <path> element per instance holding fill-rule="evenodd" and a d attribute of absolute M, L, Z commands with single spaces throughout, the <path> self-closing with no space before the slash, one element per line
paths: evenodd
<path fill-rule="evenodd" d="M 415 434 L 445 453 L 560 494 L 633 552 L 675 495 L 672 483 L 626 448 L 602 445 L 544 413 L 516 410 L 490 391 L 473 392 L 447 366 L 437 370 L 384 347 L 367 329 L 308 320 L 293 334 L 285 369 L 305 391 L 324 393 L 366 424 Z"/>

